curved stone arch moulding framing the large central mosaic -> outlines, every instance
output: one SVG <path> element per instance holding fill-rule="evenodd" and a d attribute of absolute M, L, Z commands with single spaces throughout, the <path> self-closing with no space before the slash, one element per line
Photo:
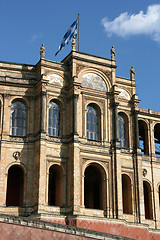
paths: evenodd
<path fill-rule="evenodd" d="M 78 74 L 78 82 L 81 84 L 81 78 L 85 74 L 89 74 L 89 73 L 97 74 L 99 77 L 101 77 L 102 80 L 104 81 L 104 83 L 106 84 L 107 91 L 110 90 L 110 88 L 111 88 L 110 80 L 108 79 L 108 77 L 103 72 L 99 71 L 98 69 L 94 69 L 94 68 L 84 68 L 84 69 L 82 69 Z"/>

